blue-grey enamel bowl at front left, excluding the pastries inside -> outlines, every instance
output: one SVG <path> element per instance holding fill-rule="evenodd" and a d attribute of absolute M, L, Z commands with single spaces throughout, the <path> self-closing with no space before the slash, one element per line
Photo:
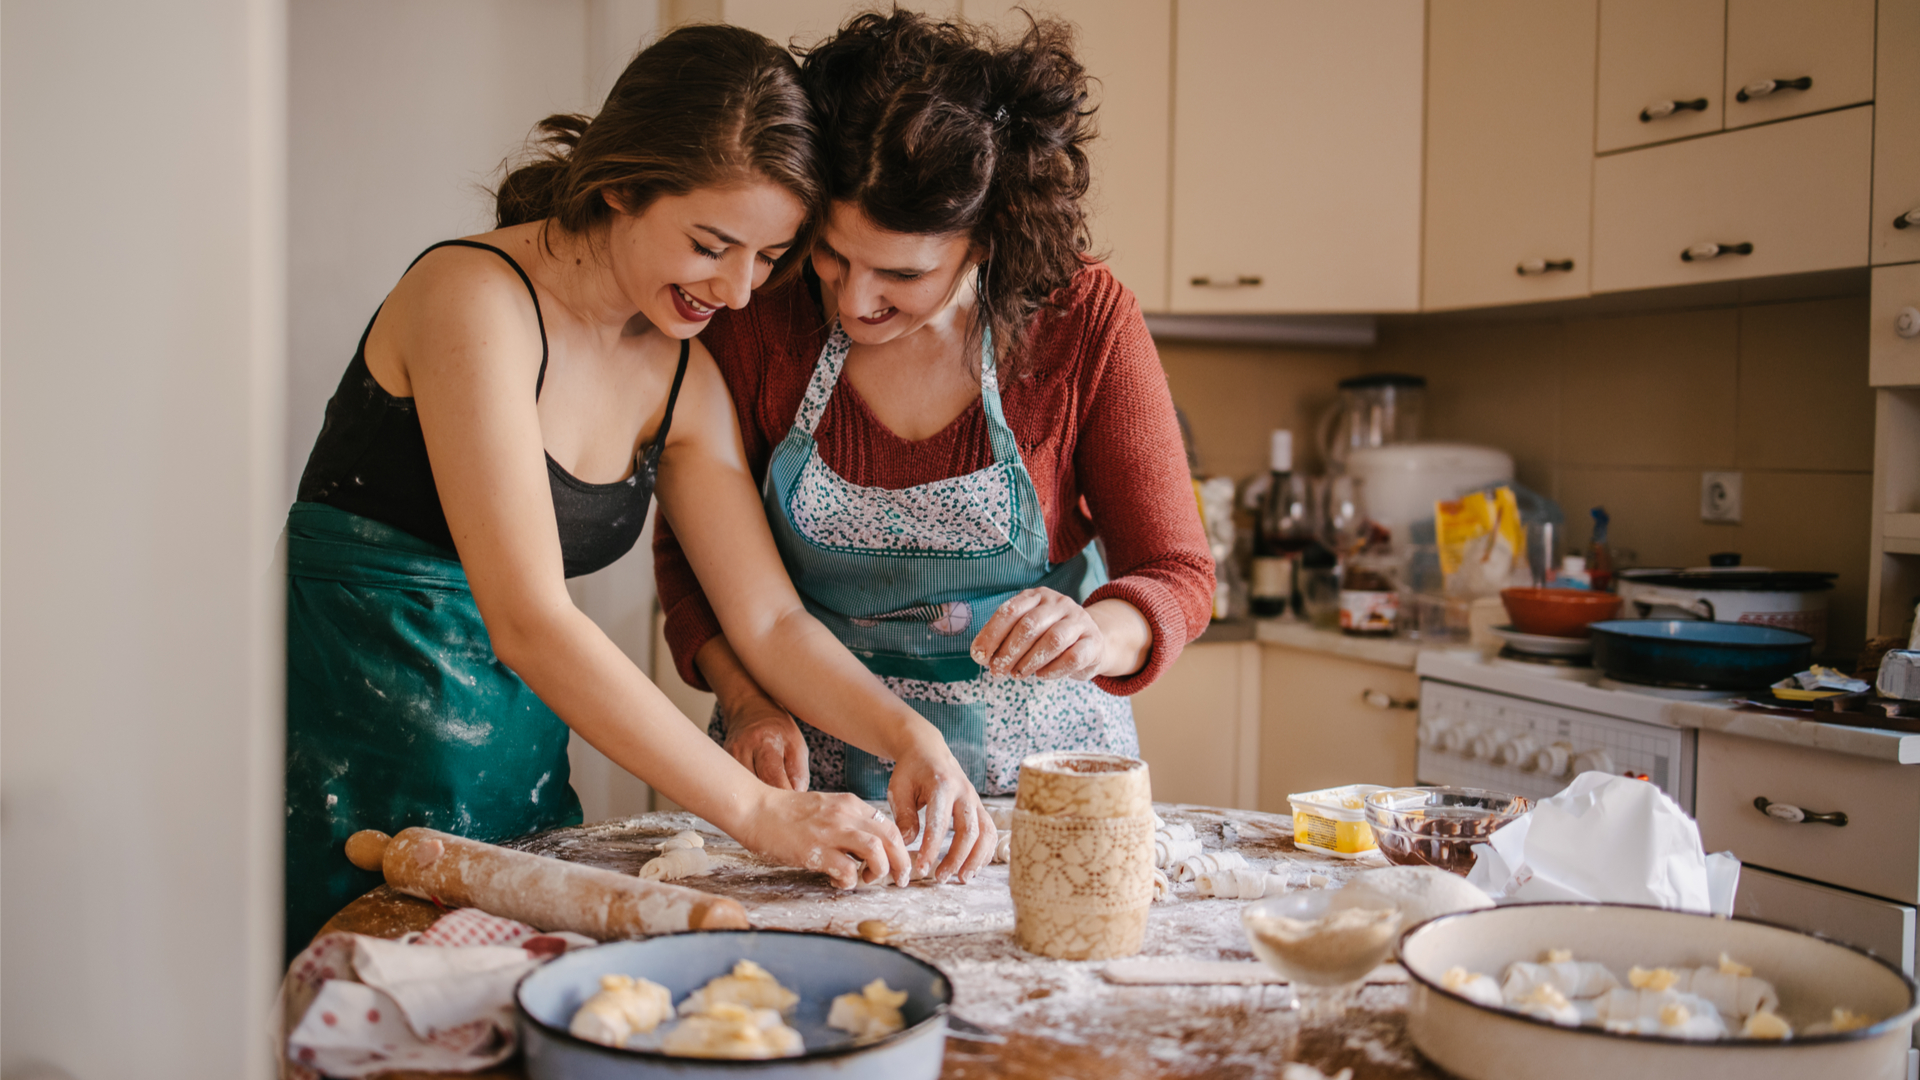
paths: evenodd
<path fill-rule="evenodd" d="M 614 1049 L 566 1034 L 574 1011 L 599 992 L 603 974 L 634 974 L 659 982 L 672 992 L 678 1005 L 687 994 L 714 976 L 728 974 L 743 959 L 764 967 L 781 986 L 801 995 L 787 1022 L 801 1032 L 806 1053 L 772 1061 L 712 1061 Z M 900 1007 L 906 1028 L 854 1045 L 852 1036 L 828 1026 L 828 1007 L 841 994 L 856 994 L 876 978 L 906 992 L 906 1005 Z M 856 938 L 793 930 L 695 930 L 574 949 L 522 978 L 515 1001 L 530 1080 L 653 1076 L 935 1080 L 947 1051 L 952 984 L 941 969 L 922 959 Z"/>

